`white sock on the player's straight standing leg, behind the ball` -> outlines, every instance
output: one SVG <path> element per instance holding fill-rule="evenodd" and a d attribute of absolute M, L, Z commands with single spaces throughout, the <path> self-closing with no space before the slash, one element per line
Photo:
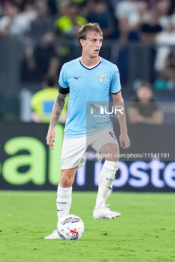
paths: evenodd
<path fill-rule="evenodd" d="M 57 190 L 57 216 L 58 220 L 69 214 L 70 211 L 70 206 L 72 202 L 72 186 L 69 188 L 63 188 L 58 185 L 58 190 Z"/>

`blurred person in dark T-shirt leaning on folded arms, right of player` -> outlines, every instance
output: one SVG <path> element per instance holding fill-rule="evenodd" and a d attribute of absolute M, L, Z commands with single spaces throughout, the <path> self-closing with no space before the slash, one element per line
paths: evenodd
<path fill-rule="evenodd" d="M 158 108 L 158 103 L 152 99 L 151 84 L 143 82 L 137 90 L 137 95 L 131 97 L 128 108 L 129 121 L 132 124 L 162 124 L 163 113 Z"/>

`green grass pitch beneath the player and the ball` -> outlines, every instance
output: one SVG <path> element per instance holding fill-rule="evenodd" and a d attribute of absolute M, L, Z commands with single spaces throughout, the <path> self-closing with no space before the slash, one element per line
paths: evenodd
<path fill-rule="evenodd" d="M 73 192 L 70 213 L 83 219 L 80 240 L 45 240 L 56 229 L 56 192 L 0 191 L 1 262 L 175 261 L 175 194 L 109 196 L 115 220 L 92 217 L 96 192 Z"/>

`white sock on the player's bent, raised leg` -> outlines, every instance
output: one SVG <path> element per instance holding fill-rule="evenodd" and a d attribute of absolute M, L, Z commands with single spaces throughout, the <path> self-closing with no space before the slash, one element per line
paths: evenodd
<path fill-rule="evenodd" d="M 102 171 L 99 176 L 99 186 L 98 186 L 98 194 L 95 205 L 95 210 L 100 210 L 101 204 L 106 203 L 106 199 L 108 198 L 110 191 L 112 189 L 115 173 L 118 170 L 118 161 L 107 161 L 102 166 Z"/>

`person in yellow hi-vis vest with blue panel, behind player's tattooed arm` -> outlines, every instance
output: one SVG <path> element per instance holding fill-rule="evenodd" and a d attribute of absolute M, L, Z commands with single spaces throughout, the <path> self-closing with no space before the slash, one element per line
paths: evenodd
<path fill-rule="evenodd" d="M 52 115 L 52 108 L 58 95 L 58 84 L 51 76 L 47 76 L 43 81 L 43 89 L 36 92 L 31 98 L 33 109 L 32 118 L 37 123 L 49 123 Z M 59 123 L 65 123 L 67 115 L 68 96 L 65 106 L 59 118 Z"/>

